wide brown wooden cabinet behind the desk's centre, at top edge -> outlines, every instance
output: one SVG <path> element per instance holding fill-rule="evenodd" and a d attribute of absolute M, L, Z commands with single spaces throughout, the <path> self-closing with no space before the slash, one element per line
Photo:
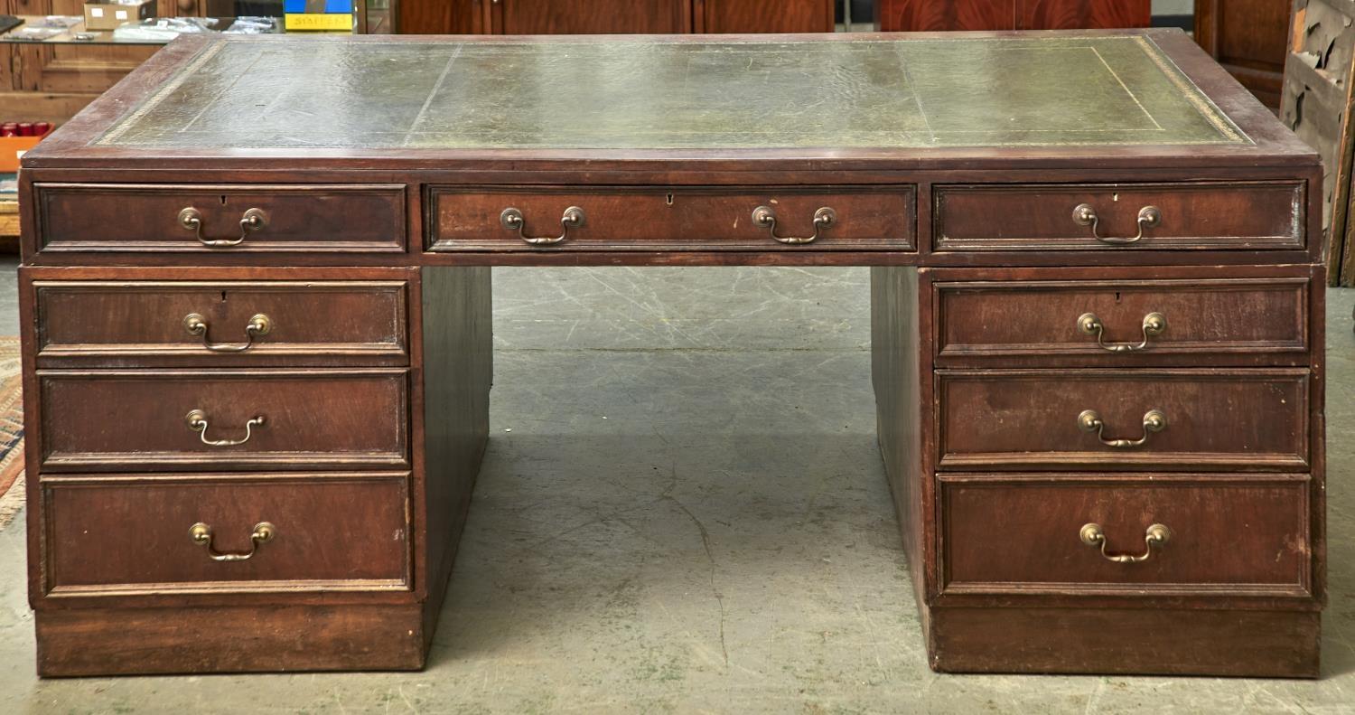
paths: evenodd
<path fill-rule="evenodd" d="M 402 34 L 832 33 L 833 0 L 401 0 Z"/>

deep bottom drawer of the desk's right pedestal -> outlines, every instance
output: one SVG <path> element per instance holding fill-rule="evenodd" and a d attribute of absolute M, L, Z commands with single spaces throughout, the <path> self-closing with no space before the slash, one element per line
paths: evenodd
<path fill-rule="evenodd" d="M 1306 475 L 942 478 L 946 592 L 1308 596 Z M 1096 524 L 1100 544 L 1081 540 Z M 1149 547 L 1148 529 L 1167 526 Z"/>

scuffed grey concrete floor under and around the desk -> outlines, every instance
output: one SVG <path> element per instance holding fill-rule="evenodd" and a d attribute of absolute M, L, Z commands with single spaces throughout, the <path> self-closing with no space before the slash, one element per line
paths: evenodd
<path fill-rule="evenodd" d="M 20 517 L 0 712 L 1355 712 L 1355 290 L 1328 312 L 1325 677 L 1253 681 L 927 669 L 864 270 L 495 282 L 493 431 L 425 672 L 38 681 Z"/>

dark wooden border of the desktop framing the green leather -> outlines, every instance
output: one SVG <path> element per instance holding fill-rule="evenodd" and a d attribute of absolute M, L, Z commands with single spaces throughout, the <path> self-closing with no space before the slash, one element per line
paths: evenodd
<path fill-rule="evenodd" d="M 321 148 L 249 149 L 160 148 L 100 145 L 99 140 L 182 68 L 213 45 L 230 42 L 286 42 L 285 38 L 186 35 L 159 52 L 118 83 L 57 133 L 30 151 L 26 168 L 260 168 L 289 170 L 435 170 L 465 167 L 531 166 L 549 170 L 577 168 L 652 171 L 673 163 L 695 163 L 702 170 L 776 171 L 802 168 L 947 170 L 986 167 L 1233 167 L 1312 166 L 1317 155 L 1286 129 L 1271 111 L 1229 76 L 1184 33 L 1175 28 L 1000 31 L 1000 33 L 852 33 L 814 35 L 355 35 L 316 38 L 308 42 L 356 43 L 465 43 L 465 45 L 768 45 L 789 42 L 878 42 L 894 39 L 989 39 L 989 38 L 1115 38 L 1146 37 L 1179 72 L 1194 83 L 1249 141 L 1245 144 L 1123 144 L 1068 147 L 925 147 L 925 148 Z"/>

